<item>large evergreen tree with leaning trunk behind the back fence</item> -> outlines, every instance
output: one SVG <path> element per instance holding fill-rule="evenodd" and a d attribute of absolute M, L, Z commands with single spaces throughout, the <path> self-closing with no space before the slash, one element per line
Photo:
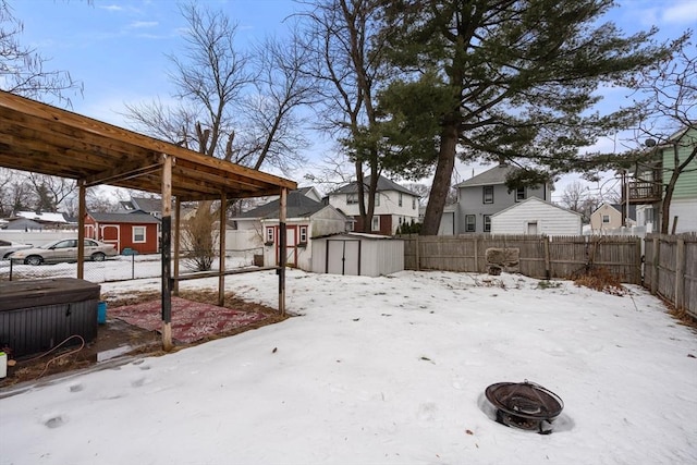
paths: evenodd
<path fill-rule="evenodd" d="M 394 167 L 435 169 L 424 234 L 437 234 L 455 157 L 525 169 L 509 187 L 585 170 L 579 147 L 636 112 L 592 111 L 602 84 L 671 54 L 656 29 L 601 23 L 612 0 L 394 0 L 378 42 L 399 70 L 379 96 Z M 680 40 L 673 47 L 680 46 Z M 405 161 L 406 160 L 406 161 Z"/>

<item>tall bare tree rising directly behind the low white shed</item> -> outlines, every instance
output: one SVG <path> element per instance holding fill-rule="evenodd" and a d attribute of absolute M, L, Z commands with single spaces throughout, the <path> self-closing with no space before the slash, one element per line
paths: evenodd
<path fill-rule="evenodd" d="M 375 94 L 383 69 L 380 47 L 371 42 L 379 2 L 315 0 L 306 4 L 311 7 L 303 14 L 306 47 L 315 58 L 305 70 L 322 83 L 319 127 L 344 143 L 355 169 L 360 223 L 369 228 L 382 172 L 379 140 L 370 137 L 378 122 Z M 369 184 L 364 182 L 366 169 L 370 174 Z"/>

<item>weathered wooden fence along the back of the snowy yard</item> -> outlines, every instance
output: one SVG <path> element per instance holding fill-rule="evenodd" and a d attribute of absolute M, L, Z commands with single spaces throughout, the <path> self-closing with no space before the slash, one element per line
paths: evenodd
<path fill-rule="evenodd" d="M 572 278 L 602 267 L 622 282 L 641 283 L 641 240 L 635 236 L 490 235 L 403 236 L 411 270 L 486 272 L 488 248 L 517 248 L 519 272 L 530 278 Z"/>

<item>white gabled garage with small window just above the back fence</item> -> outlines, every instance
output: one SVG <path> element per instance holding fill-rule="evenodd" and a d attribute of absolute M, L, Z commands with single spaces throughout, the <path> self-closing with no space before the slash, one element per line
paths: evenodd
<path fill-rule="evenodd" d="M 537 197 L 491 216 L 492 234 L 579 235 L 583 215 Z"/>

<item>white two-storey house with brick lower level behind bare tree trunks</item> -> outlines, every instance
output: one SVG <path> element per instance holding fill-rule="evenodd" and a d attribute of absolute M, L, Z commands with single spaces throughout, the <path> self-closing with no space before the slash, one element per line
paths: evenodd
<path fill-rule="evenodd" d="M 366 176 L 364 183 L 367 194 L 370 176 Z M 369 232 L 393 235 L 401 224 L 418 222 L 418 194 L 380 176 L 375 196 L 372 223 L 368 228 Z M 366 206 L 367 200 L 366 198 Z M 356 221 L 354 225 L 356 230 L 364 229 L 358 207 L 358 184 L 355 181 L 329 193 L 327 201 L 344 215 L 352 217 Z"/>

